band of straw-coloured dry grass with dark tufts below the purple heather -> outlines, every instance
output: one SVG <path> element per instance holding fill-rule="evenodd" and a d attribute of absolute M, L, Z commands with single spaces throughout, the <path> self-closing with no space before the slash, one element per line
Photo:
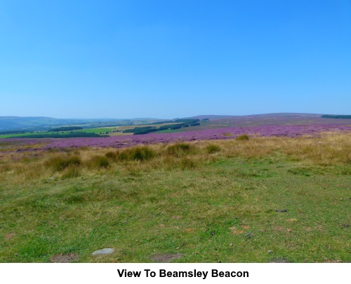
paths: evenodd
<path fill-rule="evenodd" d="M 3 152 L 1 155 L 0 179 L 11 176 L 14 181 L 52 176 L 77 177 L 100 170 L 113 173 L 121 165 L 135 173 L 150 168 L 197 168 L 220 158 L 238 156 L 263 158 L 285 155 L 293 161 L 303 161 L 306 165 L 350 165 L 351 134 L 324 133 L 320 137 L 296 138 L 251 137 L 249 140 L 152 144 L 117 150 L 82 147 L 29 153 Z"/>

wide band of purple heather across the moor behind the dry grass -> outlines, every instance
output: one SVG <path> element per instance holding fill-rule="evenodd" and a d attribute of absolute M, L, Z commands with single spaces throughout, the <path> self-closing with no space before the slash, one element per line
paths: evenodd
<path fill-rule="evenodd" d="M 272 126 L 251 126 L 251 127 L 230 127 L 215 128 L 208 130 L 196 130 L 180 133 L 151 133 L 145 135 L 126 135 L 114 137 L 82 137 L 67 138 L 60 140 L 45 140 L 46 146 L 41 148 L 68 148 L 68 147 L 113 147 L 123 148 L 138 146 L 140 144 L 157 144 L 168 142 L 191 142 L 194 140 L 230 140 L 240 135 L 258 136 L 258 137 L 303 137 L 310 135 L 312 137 L 320 133 L 351 132 L 351 126 L 338 124 L 317 124 L 317 125 L 272 125 Z M 228 136 L 227 133 L 232 135 Z M 0 142 L 22 141 L 30 143 L 39 143 L 42 140 L 19 140 L 8 139 Z M 30 150 L 30 149 L 27 149 Z"/>

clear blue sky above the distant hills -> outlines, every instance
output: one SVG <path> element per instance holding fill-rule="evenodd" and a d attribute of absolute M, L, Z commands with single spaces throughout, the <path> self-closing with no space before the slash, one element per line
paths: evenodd
<path fill-rule="evenodd" d="M 0 0 L 0 116 L 351 114 L 350 0 Z"/>

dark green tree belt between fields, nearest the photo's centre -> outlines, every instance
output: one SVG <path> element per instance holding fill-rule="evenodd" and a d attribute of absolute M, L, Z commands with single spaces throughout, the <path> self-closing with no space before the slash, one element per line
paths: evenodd
<path fill-rule="evenodd" d="M 156 128 L 155 126 L 135 127 L 132 129 L 124 130 L 123 133 L 133 133 L 134 135 L 139 135 L 139 134 L 147 134 L 147 133 L 152 133 L 152 132 L 161 131 L 161 130 L 176 130 L 176 129 L 185 128 L 189 126 L 199 126 L 200 125 L 199 121 L 200 121 L 199 119 L 176 119 L 174 121 L 155 122 L 152 124 L 164 124 L 164 123 L 177 123 L 177 124 L 160 126 L 159 128 Z"/>

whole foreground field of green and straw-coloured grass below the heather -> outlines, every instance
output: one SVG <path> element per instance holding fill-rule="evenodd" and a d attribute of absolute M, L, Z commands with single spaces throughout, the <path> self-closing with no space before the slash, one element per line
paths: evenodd
<path fill-rule="evenodd" d="M 0 156 L 0 262 L 351 262 L 351 134 Z"/>

